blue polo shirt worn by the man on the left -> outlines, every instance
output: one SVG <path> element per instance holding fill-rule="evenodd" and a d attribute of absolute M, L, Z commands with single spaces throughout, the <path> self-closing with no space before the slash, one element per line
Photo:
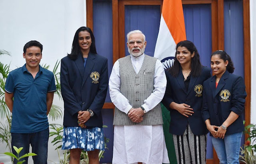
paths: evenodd
<path fill-rule="evenodd" d="M 56 91 L 51 71 L 39 65 L 33 78 L 24 64 L 10 72 L 5 91 L 14 94 L 11 133 L 36 133 L 49 127 L 46 96 L 48 92 Z"/>

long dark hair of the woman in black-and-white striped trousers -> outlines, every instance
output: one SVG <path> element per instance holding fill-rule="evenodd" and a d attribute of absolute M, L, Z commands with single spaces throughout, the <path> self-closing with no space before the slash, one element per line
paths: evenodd
<path fill-rule="evenodd" d="M 175 53 L 175 59 L 174 63 L 171 68 L 168 69 L 168 72 L 174 77 L 178 76 L 179 69 L 180 69 L 180 62 L 177 60 L 177 49 L 178 47 L 186 47 L 188 51 L 192 54 L 195 52 L 194 57 L 191 58 L 191 74 L 194 77 L 198 77 L 201 75 L 201 62 L 200 62 L 200 56 L 196 49 L 196 46 L 191 41 L 180 41 L 176 46 L 176 53 Z"/>

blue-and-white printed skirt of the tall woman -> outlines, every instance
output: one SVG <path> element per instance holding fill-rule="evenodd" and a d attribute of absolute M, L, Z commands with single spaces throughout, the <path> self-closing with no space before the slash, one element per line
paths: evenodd
<path fill-rule="evenodd" d="M 62 150 L 81 148 L 84 151 L 105 150 L 103 128 L 63 128 Z"/>

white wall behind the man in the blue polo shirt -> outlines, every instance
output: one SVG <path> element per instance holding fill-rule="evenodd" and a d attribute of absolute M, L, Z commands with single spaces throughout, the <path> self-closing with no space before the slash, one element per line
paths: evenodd
<path fill-rule="evenodd" d="M 85 0 L 0 0 L 0 6 L 0 49 L 12 55 L 1 56 L 0 61 L 11 63 L 12 70 L 25 63 L 23 47 L 30 40 L 42 43 L 40 63 L 50 64 L 49 69 L 52 70 L 57 60 L 70 53 L 76 30 L 86 25 Z M 63 109 L 63 103 L 57 96 L 53 103 Z M 62 120 L 54 123 L 62 124 Z M 58 154 L 51 141 L 50 138 L 48 159 L 58 162 Z M 5 164 L 10 162 L 1 154 L 6 151 L 5 145 L 0 143 L 0 162 Z M 29 163 L 32 163 L 31 159 Z"/>

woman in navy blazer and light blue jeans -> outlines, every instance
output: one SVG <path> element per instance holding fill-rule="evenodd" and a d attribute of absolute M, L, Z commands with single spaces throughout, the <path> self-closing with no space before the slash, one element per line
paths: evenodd
<path fill-rule="evenodd" d="M 234 66 L 225 51 L 212 53 L 211 68 L 215 75 L 204 82 L 202 117 L 213 136 L 220 164 L 239 164 L 246 98 L 244 80 L 232 74 Z"/>

